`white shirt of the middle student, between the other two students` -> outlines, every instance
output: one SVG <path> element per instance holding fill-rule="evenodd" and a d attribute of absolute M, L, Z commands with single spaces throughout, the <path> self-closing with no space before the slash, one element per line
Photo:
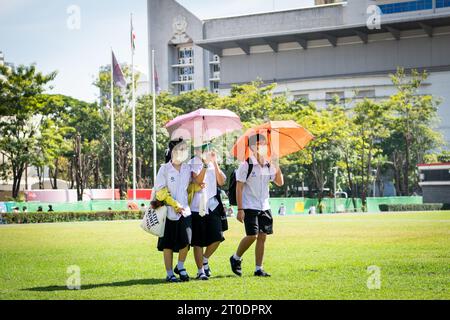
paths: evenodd
<path fill-rule="evenodd" d="M 191 166 L 191 171 L 195 174 L 200 174 L 203 170 L 203 162 L 199 157 L 194 157 L 191 161 L 189 161 Z M 225 174 L 222 173 L 222 176 L 226 179 Z M 202 192 L 206 192 L 206 198 L 208 199 L 208 209 L 214 211 L 219 205 L 219 201 L 216 199 L 217 194 L 217 176 L 216 176 L 216 168 L 212 163 L 209 163 L 208 170 L 206 170 L 205 180 L 206 187 L 205 189 L 196 192 L 194 194 L 194 198 L 191 202 L 191 210 L 193 212 L 199 212 L 200 210 L 200 200 Z M 208 210 L 206 210 L 206 214 L 209 214 Z"/>

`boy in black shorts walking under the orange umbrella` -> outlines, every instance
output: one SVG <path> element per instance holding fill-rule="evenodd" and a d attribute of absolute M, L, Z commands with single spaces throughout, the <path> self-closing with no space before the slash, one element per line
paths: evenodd
<path fill-rule="evenodd" d="M 267 235 L 273 234 L 273 219 L 269 205 L 269 185 L 284 185 L 281 169 L 272 157 L 269 162 L 269 147 L 264 135 L 249 137 L 248 145 L 252 155 L 241 163 L 236 172 L 237 219 L 244 223 L 244 237 L 236 253 L 230 258 L 231 270 L 242 276 L 242 256 L 256 241 L 255 273 L 257 277 L 270 277 L 263 269 L 264 249 Z"/>

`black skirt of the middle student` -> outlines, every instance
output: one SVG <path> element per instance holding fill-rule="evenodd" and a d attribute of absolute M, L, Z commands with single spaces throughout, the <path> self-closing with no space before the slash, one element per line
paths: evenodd
<path fill-rule="evenodd" d="M 192 212 L 192 242 L 193 247 L 207 247 L 216 242 L 223 242 L 222 219 L 217 207 L 209 214 L 200 217 L 198 212 Z"/>

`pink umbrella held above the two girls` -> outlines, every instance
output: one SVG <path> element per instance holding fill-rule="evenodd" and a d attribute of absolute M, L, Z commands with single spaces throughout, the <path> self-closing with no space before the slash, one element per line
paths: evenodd
<path fill-rule="evenodd" d="M 224 134 L 242 129 L 239 116 L 229 110 L 198 109 L 179 116 L 166 129 L 172 139 L 193 140 L 198 145 Z"/>

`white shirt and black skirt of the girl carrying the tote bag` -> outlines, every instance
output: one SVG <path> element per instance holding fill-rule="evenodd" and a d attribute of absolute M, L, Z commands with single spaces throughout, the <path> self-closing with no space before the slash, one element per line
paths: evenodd
<path fill-rule="evenodd" d="M 190 182 L 191 170 L 188 164 L 182 164 L 180 171 L 174 168 L 172 162 L 162 165 L 159 169 L 156 190 L 168 188 L 172 198 L 184 208 L 183 215 L 179 215 L 171 206 L 167 207 L 164 236 L 158 240 L 159 251 L 170 249 L 179 252 L 191 244 L 192 217 L 187 192 Z"/>

